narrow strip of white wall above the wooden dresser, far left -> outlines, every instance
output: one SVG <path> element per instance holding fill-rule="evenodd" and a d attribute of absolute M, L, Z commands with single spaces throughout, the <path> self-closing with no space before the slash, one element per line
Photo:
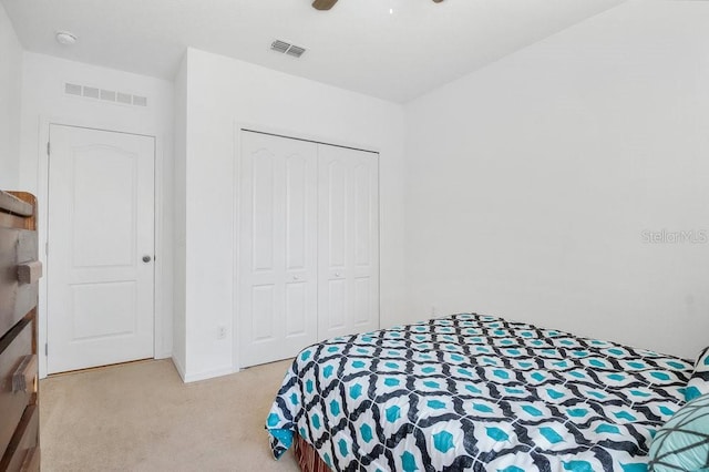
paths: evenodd
<path fill-rule="evenodd" d="M 0 3 L 0 188 L 20 189 L 22 45 Z"/>

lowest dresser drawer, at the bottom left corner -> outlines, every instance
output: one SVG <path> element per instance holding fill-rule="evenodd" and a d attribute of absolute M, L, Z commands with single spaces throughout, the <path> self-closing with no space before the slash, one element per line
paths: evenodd
<path fill-rule="evenodd" d="M 0 461 L 0 470 L 7 472 L 35 472 L 39 471 L 39 413 L 37 406 L 32 404 L 24 410 L 22 420 L 18 427 L 8 450 Z"/>

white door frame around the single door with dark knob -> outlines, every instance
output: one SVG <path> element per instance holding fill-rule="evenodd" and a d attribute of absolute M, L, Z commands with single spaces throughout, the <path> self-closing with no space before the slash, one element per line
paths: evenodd
<path fill-rule="evenodd" d="M 168 281 L 167 274 L 165 273 L 164 261 L 172 259 L 172 255 L 165 250 L 165 245 L 162 244 L 165 235 L 164 227 L 164 154 L 165 143 L 164 137 L 158 133 L 145 132 L 140 129 L 126 127 L 124 125 L 115 125 L 114 123 L 103 123 L 91 119 L 76 119 L 76 117 L 58 117 L 58 116 L 40 116 L 39 124 L 39 145 L 38 145 L 38 162 L 39 162 L 39 177 L 38 177 L 38 202 L 40 202 L 38 208 L 38 236 L 39 236 L 39 253 L 42 264 L 48 266 L 47 259 L 47 244 L 49 240 L 49 214 L 48 208 L 51 206 L 49 202 L 49 155 L 47 153 L 47 143 L 50 138 L 50 127 L 52 125 L 81 127 L 96 131 L 104 131 L 110 133 L 123 133 L 133 134 L 138 136 L 152 137 L 154 141 L 153 160 L 155 165 L 155 174 L 153 182 L 154 193 L 154 227 L 153 235 L 155 246 L 155 261 L 153 273 L 153 356 L 155 359 L 168 358 L 172 356 L 172 334 L 169 329 L 172 327 L 172 318 L 165 309 L 164 297 L 166 295 Z M 47 274 L 47 269 L 44 270 Z M 48 356 L 44 350 L 44 346 L 48 341 L 48 283 L 47 277 L 40 278 L 40 300 L 38 307 L 38 353 L 39 353 L 39 370 L 40 378 L 43 379 L 48 374 Z M 169 294 L 172 295 L 172 294 Z M 166 348 L 168 347 L 168 348 Z"/>

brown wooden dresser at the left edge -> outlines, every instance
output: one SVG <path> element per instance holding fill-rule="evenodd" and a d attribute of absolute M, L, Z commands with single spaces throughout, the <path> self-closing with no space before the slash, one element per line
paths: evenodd
<path fill-rule="evenodd" d="M 37 201 L 0 191 L 0 471 L 38 471 Z"/>

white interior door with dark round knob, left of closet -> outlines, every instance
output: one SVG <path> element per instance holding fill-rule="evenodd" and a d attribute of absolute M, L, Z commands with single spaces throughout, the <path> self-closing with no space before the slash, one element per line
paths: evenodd
<path fill-rule="evenodd" d="M 153 137 L 51 125 L 49 373 L 153 357 Z"/>

